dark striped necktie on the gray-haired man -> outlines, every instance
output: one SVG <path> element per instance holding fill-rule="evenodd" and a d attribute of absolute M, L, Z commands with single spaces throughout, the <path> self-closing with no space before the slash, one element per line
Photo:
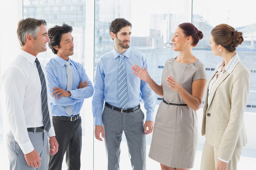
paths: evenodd
<path fill-rule="evenodd" d="M 49 109 L 48 109 L 48 104 L 47 104 L 47 88 L 46 88 L 46 83 L 45 83 L 45 76 L 44 76 L 42 67 L 40 65 L 40 62 L 37 58 L 35 60 L 35 63 L 36 63 L 36 67 L 38 69 L 41 86 L 42 86 L 41 95 L 42 95 L 42 111 L 43 111 L 44 129 L 47 132 L 49 132 L 49 129 L 51 127 L 51 121 L 50 121 Z"/>

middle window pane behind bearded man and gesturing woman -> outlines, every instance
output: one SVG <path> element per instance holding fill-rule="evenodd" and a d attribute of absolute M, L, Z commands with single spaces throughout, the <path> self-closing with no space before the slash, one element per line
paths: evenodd
<path fill-rule="evenodd" d="M 109 35 L 109 26 L 115 18 L 125 18 L 132 23 L 130 47 L 145 54 L 151 77 L 161 84 L 161 75 L 165 61 L 177 55 L 172 49 L 171 39 L 178 24 L 191 22 L 191 2 L 160 0 L 96 0 L 95 1 L 95 69 L 99 57 L 114 47 Z M 145 5 L 146 4 L 146 5 Z M 162 98 L 155 95 L 157 106 Z M 142 111 L 146 113 L 143 103 Z M 155 116 L 155 115 L 154 115 Z M 146 115 L 145 115 L 146 119 Z M 147 155 L 152 134 L 146 136 Z M 103 139 L 104 140 L 104 139 Z M 121 142 L 120 169 L 132 169 L 126 138 L 123 133 Z M 104 142 L 94 139 L 94 169 L 107 169 L 107 157 Z M 100 160 L 100 163 L 98 162 Z M 147 168 L 159 169 L 157 162 L 147 156 Z"/>

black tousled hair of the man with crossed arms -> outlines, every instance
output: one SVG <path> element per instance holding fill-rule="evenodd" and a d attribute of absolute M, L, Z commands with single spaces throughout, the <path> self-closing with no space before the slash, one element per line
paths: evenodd
<path fill-rule="evenodd" d="M 67 24 L 62 24 L 62 26 L 55 25 L 54 27 L 48 30 L 48 36 L 50 42 L 48 42 L 48 46 L 52 49 L 54 54 L 57 54 L 57 50 L 54 46 L 58 46 L 60 48 L 60 40 L 63 34 L 72 33 L 73 28 Z"/>

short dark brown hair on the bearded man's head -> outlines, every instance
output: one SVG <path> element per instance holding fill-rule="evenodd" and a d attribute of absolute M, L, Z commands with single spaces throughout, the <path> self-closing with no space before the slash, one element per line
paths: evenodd
<path fill-rule="evenodd" d="M 130 26 L 132 28 L 132 24 L 124 19 L 124 18 L 116 18 L 111 22 L 109 27 L 109 34 L 113 32 L 114 34 L 118 33 L 123 27 Z M 112 38 L 112 40 L 114 40 Z"/>

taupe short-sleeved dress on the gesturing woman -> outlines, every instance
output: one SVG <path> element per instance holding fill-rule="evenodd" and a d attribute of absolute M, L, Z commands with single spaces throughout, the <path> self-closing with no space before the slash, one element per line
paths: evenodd
<path fill-rule="evenodd" d="M 166 61 L 162 74 L 164 100 L 185 104 L 180 95 L 169 88 L 166 78 L 171 75 L 190 94 L 192 82 L 206 79 L 203 64 L 179 63 L 175 58 Z M 154 125 L 149 157 L 173 168 L 193 168 L 197 147 L 197 114 L 189 106 L 160 103 Z"/>

